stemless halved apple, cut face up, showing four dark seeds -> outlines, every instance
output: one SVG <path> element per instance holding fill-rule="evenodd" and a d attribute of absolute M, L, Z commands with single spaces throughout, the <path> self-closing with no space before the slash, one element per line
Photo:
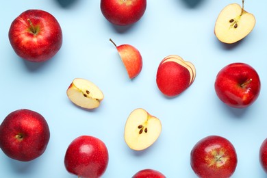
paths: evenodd
<path fill-rule="evenodd" d="M 136 109 L 129 115 L 124 138 L 127 145 L 136 151 L 147 149 L 160 136 L 162 123 L 144 109 Z"/>

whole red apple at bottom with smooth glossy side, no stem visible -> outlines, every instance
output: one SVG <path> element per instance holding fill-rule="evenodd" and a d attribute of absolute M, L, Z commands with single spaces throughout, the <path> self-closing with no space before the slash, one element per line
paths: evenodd
<path fill-rule="evenodd" d="M 104 142 L 92 136 L 79 136 L 68 146 L 64 165 L 73 175 L 98 178 L 105 173 L 108 160 Z"/>

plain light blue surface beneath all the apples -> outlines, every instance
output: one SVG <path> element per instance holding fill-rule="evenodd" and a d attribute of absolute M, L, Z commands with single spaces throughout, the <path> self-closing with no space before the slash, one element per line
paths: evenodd
<path fill-rule="evenodd" d="M 148 0 L 144 16 L 130 27 L 108 23 L 100 1 L 68 1 L 1 2 L 0 121 L 14 110 L 34 110 L 47 119 L 51 139 L 44 154 L 32 162 L 11 160 L 0 151 L 0 177 L 76 177 L 63 162 L 68 144 L 81 135 L 95 136 L 107 145 L 110 162 L 103 177 L 131 177 L 144 168 L 170 178 L 196 177 L 190 151 L 209 135 L 223 136 L 236 148 L 238 166 L 233 177 L 266 177 L 258 154 L 267 137 L 267 1 L 245 1 L 245 10 L 255 15 L 257 23 L 249 36 L 232 45 L 217 40 L 214 24 L 220 10 L 241 0 L 195 4 L 193 0 Z M 29 9 L 53 14 L 64 35 L 59 53 L 42 64 L 18 58 L 8 40 L 14 18 Z M 109 38 L 139 49 L 143 68 L 136 79 L 128 79 Z M 155 75 L 160 61 L 171 54 L 192 62 L 196 79 L 179 97 L 167 99 L 158 90 Z M 245 110 L 227 107 L 214 91 L 218 71 L 232 62 L 250 64 L 262 81 L 259 98 Z M 97 110 L 82 110 L 68 99 L 66 89 L 75 77 L 101 88 L 105 99 Z M 131 151 L 123 138 L 125 121 L 138 107 L 162 121 L 160 138 L 140 152 Z"/>

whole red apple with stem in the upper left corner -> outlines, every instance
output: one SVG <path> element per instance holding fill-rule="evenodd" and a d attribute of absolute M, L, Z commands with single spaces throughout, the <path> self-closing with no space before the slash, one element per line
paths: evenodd
<path fill-rule="evenodd" d="M 62 46 L 60 24 L 43 10 L 20 14 L 12 22 L 8 36 L 16 54 L 31 62 L 49 60 Z"/>

